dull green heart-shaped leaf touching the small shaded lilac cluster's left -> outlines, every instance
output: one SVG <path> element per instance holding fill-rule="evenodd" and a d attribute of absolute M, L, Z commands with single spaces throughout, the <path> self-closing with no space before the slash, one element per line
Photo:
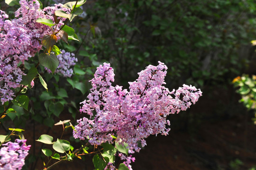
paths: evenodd
<path fill-rule="evenodd" d="M 59 66 L 60 63 L 57 56 L 53 53 L 41 53 L 38 59 L 40 64 L 46 68 L 49 68 L 52 73 L 54 73 L 55 69 Z"/>

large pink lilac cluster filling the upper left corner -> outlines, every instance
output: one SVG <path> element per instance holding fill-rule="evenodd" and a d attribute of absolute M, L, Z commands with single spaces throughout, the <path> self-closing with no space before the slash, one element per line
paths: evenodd
<path fill-rule="evenodd" d="M 37 23 L 38 18 L 54 20 L 54 11 L 63 9 L 62 4 L 40 9 L 37 0 L 20 0 L 20 8 L 15 12 L 15 19 L 8 20 L 8 15 L 0 10 L 0 101 L 2 104 L 13 100 L 12 88 L 18 88 L 25 75 L 21 64 L 41 50 L 40 39 L 50 34 L 49 26 Z M 64 10 L 64 9 L 63 9 Z M 65 9 L 68 11 L 69 9 Z M 57 28 L 62 26 L 62 18 Z"/>

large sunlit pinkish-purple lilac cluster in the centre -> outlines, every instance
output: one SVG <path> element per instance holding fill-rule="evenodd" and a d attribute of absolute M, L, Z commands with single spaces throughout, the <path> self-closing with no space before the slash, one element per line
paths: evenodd
<path fill-rule="evenodd" d="M 165 88 L 166 69 L 159 61 L 158 66 L 149 65 L 138 73 L 134 82 L 129 82 L 129 91 L 122 86 L 112 86 L 114 72 L 110 64 L 97 68 L 91 80 L 88 100 L 81 102 L 81 112 L 90 115 L 77 120 L 74 138 L 89 139 L 91 144 L 127 143 L 129 153 L 139 152 L 146 145 L 149 135 L 167 135 L 170 121 L 166 116 L 186 110 L 198 101 L 202 92 L 194 86 L 183 85 L 178 90 Z"/>

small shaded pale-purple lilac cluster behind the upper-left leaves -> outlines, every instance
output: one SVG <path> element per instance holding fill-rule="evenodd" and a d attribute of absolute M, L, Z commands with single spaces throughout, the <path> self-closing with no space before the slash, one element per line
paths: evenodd
<path fill-rule="evenodd" d="M 55 73 L 60 73 L 64 77 L 71 77 L 73 74 L 72 66 L 75 65 L 77 62 L 77 58 L 74 57 L 74 53 L 66 52 L 64 50 L 61 51 L 62 53 L 57 55 L 57 58 L 60 61 L 59 66 L 55 69 Z M 48 68 L 45 68 L 48 73 L 52 71 Z"/>

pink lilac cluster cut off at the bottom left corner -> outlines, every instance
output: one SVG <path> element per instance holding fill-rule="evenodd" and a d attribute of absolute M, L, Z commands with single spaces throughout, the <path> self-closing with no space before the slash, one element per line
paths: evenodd
<path fill-rule="evenodd" d="M 21 170 L 30 149 L 30 145 L 25 143 L 26 140 L 16 139 L 15 142 L 2 144 L 5 147 L 0 149 L 0 170 Z"/>

